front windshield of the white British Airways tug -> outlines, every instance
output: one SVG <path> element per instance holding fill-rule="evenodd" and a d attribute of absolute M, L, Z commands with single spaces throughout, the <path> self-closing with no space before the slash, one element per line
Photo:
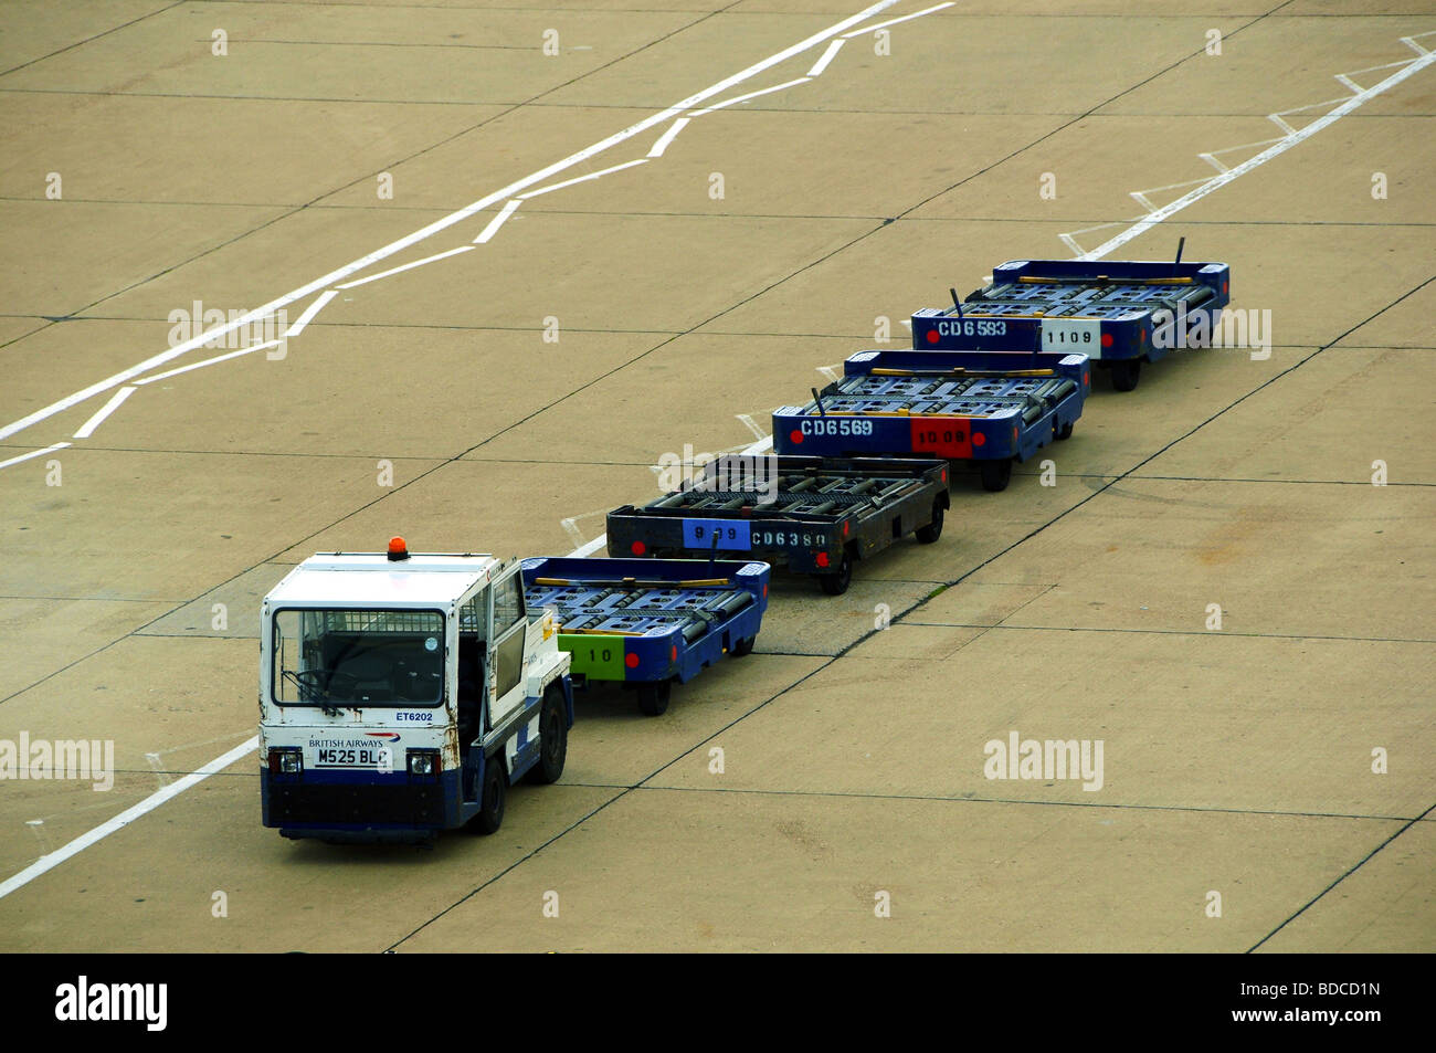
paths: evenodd
<path fill-rule="evenodd" d="M 444 615 L 280 611 L 273 691 L 280 705 L 437 705 L 444 700 Z"/>

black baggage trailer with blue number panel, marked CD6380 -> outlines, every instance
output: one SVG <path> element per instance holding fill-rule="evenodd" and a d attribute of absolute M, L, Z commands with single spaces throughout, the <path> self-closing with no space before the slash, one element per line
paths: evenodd
<path fill-rule="evenodd" d="M 685 488 L 610 511 L 609 552 L 752 556 L 814 575 L 837 596 L 857 560 L 908 534 L 942 536 L 946 461 L 773 457 L 765 484 L 734 483 L 745 460 L 719 457 Z"/>

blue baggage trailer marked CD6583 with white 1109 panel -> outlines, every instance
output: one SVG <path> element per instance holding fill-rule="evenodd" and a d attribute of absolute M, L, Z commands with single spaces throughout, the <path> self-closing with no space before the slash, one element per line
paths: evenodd
<path fill-rule="evenodd" d="M 1076 351 L 1137 386 L 1143 362 L 1212 332 L 1231 300 L 1225 263 L 1010 260 L 992 282 L 951 307 L 912 316 L 918 351 Z"/>

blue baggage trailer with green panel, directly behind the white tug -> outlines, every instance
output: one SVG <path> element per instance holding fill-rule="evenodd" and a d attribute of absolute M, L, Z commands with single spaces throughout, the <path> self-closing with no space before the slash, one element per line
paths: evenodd
<path fill-rule="evenodd" d="M 760 562 L 544 556 L 521 573 L 528 608 L 554 611 L 574 685 L 632 687 L 649 717 L 668 710 L 675 679 L 751 652 L 768 606 Z"/>

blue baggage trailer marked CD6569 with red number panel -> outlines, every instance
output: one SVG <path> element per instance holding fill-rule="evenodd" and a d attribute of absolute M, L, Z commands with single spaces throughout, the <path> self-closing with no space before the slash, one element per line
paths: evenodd
<path fill-rule="evenodd" d="M 1005 490 L 1014 461 L 1073 434 L 1090 391 L 1078 353 L 860 351 L 811 402 L 773 412 L 773 448 L 974 461 Z"/>

